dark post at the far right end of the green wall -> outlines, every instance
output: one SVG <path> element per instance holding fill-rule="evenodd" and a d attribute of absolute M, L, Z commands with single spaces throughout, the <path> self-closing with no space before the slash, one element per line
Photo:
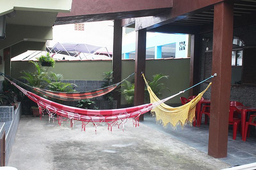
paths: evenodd
<path fill-rule="evenodd" d="M 199 51 L 200 51 L 200 36 L 198 34 L 191 35 L 190 41 L 190 71 L 189 71 L 189 86 L 193 86 L 199 82 Z M 189 95 L 197 95 L 199 92 L 198 86 L 189 91 Z"/>

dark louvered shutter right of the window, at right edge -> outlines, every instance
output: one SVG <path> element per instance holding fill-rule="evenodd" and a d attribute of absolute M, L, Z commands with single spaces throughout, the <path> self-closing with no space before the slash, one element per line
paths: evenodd
<path fill-rule="evenodd" d="M 244 48 L 242 84 L 256 86 L 256 47 Z"/>

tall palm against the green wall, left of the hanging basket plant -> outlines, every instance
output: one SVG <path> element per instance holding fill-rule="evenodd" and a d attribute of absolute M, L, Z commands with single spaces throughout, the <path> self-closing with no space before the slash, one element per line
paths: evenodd
<path fill-rule="evenodd" d="M 20 71 L 21 74 L 24 76 L 21 76 L 20 78 L 23 78 L 28 81 L 28 85 L 38 88 L 44 88 L 46 86 L 45 79 L 47 78 L 45 69 L 41 66 L 39 66 L 38 62 L 29 61 L 30 63 L 33 63 L 36 71 L 30 72 L 28 70 L 22 70 Z"/>

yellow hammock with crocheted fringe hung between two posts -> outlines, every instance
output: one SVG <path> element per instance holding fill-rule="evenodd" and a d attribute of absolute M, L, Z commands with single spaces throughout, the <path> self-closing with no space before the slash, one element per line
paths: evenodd
<path fill-rule="evenodd" d="M 156 96 L 156 94 L 152 91 L 152 89 L 148 85 L 148 82 L 144 74 L 142 74 L 142 76 L 148 88 L 150 103 L 159 102 L 160 99 Z M 186 125 L 187 123 L 189 123 L 189 125 L 192 126 L 192 122 L 195 120 L 196 104 L 201 100 L 204 92 L 206 92 L 211 85 L 212 83 L 209 83 L 209 85 L 203 92 L 199 93 L 196 96 L 196 98 L 186 103 L 185 105 L 182 105 L 179 107 L 171 107 L 162 103 L 157 107 L 154 107 L 151 110 L 151 113 L 152 115 L 156 116 L 157 123 L 159 124 L 162 123 L 164 127 L 170 126 L 173 129 L 176 129 L 176 126 L 180 124 L 181 127 L 183 128 L 183 126 Z"/>

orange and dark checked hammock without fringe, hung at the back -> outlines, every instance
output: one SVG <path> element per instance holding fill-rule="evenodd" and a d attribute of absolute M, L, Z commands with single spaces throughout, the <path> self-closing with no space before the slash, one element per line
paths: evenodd
<path fill-rule="evenodd" d="M 127 78 L 131 77 L 133 74 L 134 73 L 132 73 Z M 125 78 L 124 80 L 126 80 L 127 78 Z M 95 97 L 105 95 L 105 94 L 115 90 L 116 87 L 118 87 L 124 80 L 122 80 L 121 82 L 116 83 L 114 85 L 110 85 L 108 87 L 104 87 L 104 88 L 96 89 L 96 90 L 92 90 L 92 91 L 86 91 L 86 92 L 54 92 L 51 90 L 45 90 L 45 89 L 41 89 L 41 88 L 37 88 L 37 87 L 31 87 L 31 88 L 33 88 L 33 90 L 38 93 L 44 94 L 48 97 L 52 97 L 55 99 L 60 99 L 60 100 L 64 100 L 64 101 L 78 101 L 78 100 L 84 100 L 84 99 L 92 99 Z"/>

